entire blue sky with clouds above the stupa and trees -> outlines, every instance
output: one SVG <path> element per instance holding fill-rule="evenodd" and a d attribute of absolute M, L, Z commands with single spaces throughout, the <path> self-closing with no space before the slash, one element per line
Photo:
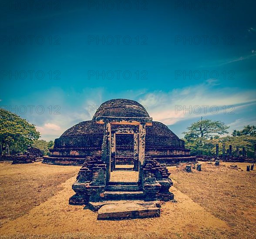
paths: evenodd
<path fill-rule="evenodd" d="M 180 137 L 201 116 L 230 132 L 256 124 L 255 1 L 30 4 L 1 2 L 0 105 L 42 139 L 114 98 Z"/>

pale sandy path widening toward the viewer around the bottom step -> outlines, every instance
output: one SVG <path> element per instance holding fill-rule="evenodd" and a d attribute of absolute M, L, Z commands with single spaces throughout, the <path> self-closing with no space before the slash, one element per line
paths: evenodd
<path fill-rule="evenodd" d="M 64 234 L 80 235 L 74 238 L 107 238 L 110 235 L 109 238 L 228 238 L 223 234 L 229 230 L 225 222 L 206 212 L 202 206 L 174 187 L 171 189 L 178 202 L 162 205 L 160 218 L 98 221 L 97 212 L 84 210 L 83 206 L 68 205 L 69 197 L 74 194 L 71 186 L 75 178 L 62 183 L 63 190 L 46 202 L 5 224 L 0 234 L 37 234 L 41 235 L 40 238 L 47 234 L 56 234 L 54 238 L 63 238 Z"/>

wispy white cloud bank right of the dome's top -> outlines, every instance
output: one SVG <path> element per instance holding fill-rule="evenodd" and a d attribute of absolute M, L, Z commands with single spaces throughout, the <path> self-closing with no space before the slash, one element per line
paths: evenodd
<path fill-rule="evenodd" d="M 139 99 L 139 102 L 147 106 L 148 113 L 153 120 L 172 125 L 180 120 L 212 115 L 217 108 L 216 115 L 223 114 L 222 107 L 225 108 L 225 106 L 226 113 L 231 112 L 232 108 L 235 113 L 246 106 L 255 105 L 255 91 L 242 92 L 234 88 L 213 90 L 211 84 L 204 83 L 172 90 L 168 93 L 162 91 L 148 93 Z M 211 106 L 212 109 L 210 109 Z M 228 108 L 229 106 L 232 107 Z"/>

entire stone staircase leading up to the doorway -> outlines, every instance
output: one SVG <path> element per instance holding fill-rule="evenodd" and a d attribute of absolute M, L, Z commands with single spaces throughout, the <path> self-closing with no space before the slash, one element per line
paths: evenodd
<path fill-rule="evenodd" d="M 160 216 L 159 201 L 144 201 L 138 182 L 109 182 L 102 202 L 89 202 L 89 209 L 98 211 L 98 219 L 121 220 Z"/>

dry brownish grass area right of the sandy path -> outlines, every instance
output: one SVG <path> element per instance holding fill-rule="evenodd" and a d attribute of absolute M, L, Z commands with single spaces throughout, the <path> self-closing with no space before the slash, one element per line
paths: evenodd
<path fill-rule="evenodd" d="M 246 172 L 246 165 L 203 163 L 201 172 L 186 173 L 185 165 L 169 170 L 174 186 L 227 222 L 234 238 L 256 238 L 256 170 Z"/>

